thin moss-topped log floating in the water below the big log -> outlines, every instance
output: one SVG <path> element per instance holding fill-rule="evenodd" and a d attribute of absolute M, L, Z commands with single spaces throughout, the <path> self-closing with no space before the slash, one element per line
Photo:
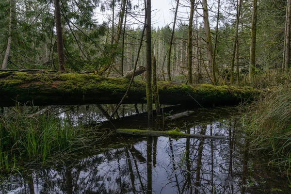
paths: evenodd
<path fill-rule="evenodd" d="M 226 139 L 226 137 L 223 137 L 223 136 L 210 136 L 210 135 L 182 133 L 178 130 L 178 128 L 176 128 L 175 130 L 168 130 L 168 131 L 117 129 L 117 132 L 130 134 L 130 135 L 166 136 L 166 137 L 178 137 L 178 138 Z"/>

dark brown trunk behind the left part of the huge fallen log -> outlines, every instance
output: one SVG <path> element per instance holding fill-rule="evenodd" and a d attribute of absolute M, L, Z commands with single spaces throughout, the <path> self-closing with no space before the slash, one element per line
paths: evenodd
<path fill-rule="evenodd" d="M 60 0 L 54 0 L 55 5 L 55 20 L 57 30 L 57 46 L 58 46 L 58 58 L 59 58 L 59 71 L 65 71 L 65 53 L 64 53 L 64 40 L 61 23 L 61 6 Z"/>

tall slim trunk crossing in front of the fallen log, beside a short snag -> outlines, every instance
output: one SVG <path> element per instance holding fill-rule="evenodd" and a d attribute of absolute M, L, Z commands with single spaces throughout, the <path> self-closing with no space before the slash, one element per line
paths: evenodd
<path fill-rule="evenodd" d="M 146 0 L 146 102 L 148 119 L 153 119 L 153 91 L 151 76 L 151 0 Z"/>

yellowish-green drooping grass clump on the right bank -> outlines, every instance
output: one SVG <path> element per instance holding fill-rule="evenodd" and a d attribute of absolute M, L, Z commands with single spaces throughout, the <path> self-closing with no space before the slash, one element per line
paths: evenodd
<path fill-rule="evenodd" d="M 291 170 L 291 89 L 281 87 L 263 94 L 247 113 L 251 147 L 272 164 Z"/>

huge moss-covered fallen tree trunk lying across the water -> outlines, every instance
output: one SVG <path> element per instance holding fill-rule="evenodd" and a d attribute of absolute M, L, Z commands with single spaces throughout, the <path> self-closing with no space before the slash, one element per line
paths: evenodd
<path fill-rule="evenodd" d="M 129 79 L 105 78 L 96 74 L 54 72 L 0 73 L 0 107 L 26 105 L 117 104 Z M 250 87 L 192 85 L 158 82 L 161 104 L 212 106 L 236 104 L 259 91 Z M 146 82 L 134 81 L 125 104 L 146 103 Z"/>

